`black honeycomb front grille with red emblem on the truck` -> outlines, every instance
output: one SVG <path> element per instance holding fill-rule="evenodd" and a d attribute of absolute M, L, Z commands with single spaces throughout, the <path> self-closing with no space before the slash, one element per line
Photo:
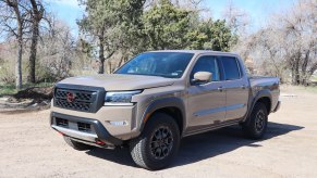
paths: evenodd
<path fill-rule="evenodd" d="M 92 112 L 92 106 L 96 100 L 94 96 L 96 96 L 95 91 L 57 88 L 54 105 L 62 109 Z"/>

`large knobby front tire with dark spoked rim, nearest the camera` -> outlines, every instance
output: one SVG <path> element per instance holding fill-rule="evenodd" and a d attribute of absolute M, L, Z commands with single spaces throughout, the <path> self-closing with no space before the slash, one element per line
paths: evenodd
<path fill-rule="evenodd" d="M 130 152 L 136 165 L 158 170 L 173 161 L 180 140 L 180 129 L 173 117 L 164 113 L 155 113 L 146 123 L 141 136 L 131 140 Z"/>

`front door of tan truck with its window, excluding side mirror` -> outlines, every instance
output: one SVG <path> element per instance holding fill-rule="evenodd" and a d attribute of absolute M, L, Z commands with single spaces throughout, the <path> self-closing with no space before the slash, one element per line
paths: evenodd
<path fill-rule="evenodd" d="M 197 72 L 212 73 L 212 79 L 207 84 L 191 84 L 187 88 L 188 131 L 219 123 L 224 119 L 225 114 L 225 91 L 222 90 L 224 81 L 221 80 L 217 56 L 199 56 L 191 72 L 191 80 Z"/>

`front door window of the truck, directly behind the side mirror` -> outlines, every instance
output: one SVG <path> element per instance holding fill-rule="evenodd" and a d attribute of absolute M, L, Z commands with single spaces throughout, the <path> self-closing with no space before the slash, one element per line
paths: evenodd
<path fill-rule="evenodd" d="M 200 56 L 191 73 L 191 80 L 194 79 L 194 74 L 197 72 L 208 72 L 212 74 L 212 81 L 219 81 L 219 67 L 217 58 L 211 55 Z"/>

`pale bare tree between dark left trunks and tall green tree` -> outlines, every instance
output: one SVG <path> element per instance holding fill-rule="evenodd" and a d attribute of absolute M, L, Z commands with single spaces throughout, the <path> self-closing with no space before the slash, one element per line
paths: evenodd
<path fill-rule="evenodd" d="M 38 81 L 54 81 L 69 77 L 71 67 L 77 60 L 75 39 L 68 24 L 52 16 L 50 26 L 50 30 L 41 34 L 38 43 Z"/>

